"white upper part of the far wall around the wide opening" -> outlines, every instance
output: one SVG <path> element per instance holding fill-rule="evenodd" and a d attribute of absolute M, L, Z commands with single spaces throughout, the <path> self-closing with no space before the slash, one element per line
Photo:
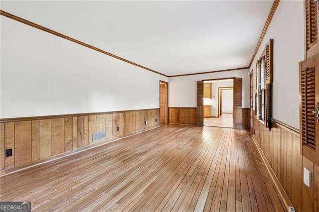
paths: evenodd
<path fill-rule="evenodd" d="M 196 107 L 196 81 L 237 77 L 243 79 L 242 107 L 249 107 L 248 69 L 169 78 L 169 106 Z M 218 98 L 218 97 L 217 97 Z"/>

